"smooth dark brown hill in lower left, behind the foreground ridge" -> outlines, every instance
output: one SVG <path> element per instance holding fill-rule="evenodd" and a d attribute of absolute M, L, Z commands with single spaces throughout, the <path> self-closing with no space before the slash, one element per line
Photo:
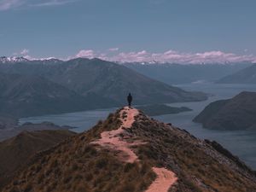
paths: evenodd
<path fill-rule="evenodd" d="M 0 143 L 0 190 L 35 153 L 74 136 L 71 131 L 23 131 Z"/>

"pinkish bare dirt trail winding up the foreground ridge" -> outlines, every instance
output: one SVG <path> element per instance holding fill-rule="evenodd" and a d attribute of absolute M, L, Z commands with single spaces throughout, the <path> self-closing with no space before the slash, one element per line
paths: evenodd
<path fill-rule="evenodd" d="M 113 131 L 103 131 L 101 134 L 102 138 L 93 143 L 99 144 L 104 148 L 119 151 L 119 160 L 134 163 L 138 160 L 138 157 L 130 147 L 145 143 L 140 141 L 127 143 L 124 138 L 129 137 L 125 129 L 131 128 L 131 125 L 134 123 L 135 117 L 138 114 L 139 112 L 136 108 L 125 107 L 120 111 L 120 120 L 122 121 L 122 125 L 119 126 L 119 129 Z M 157 177 L 145 192 L 167 192 L 168 189 L 170 189 L 172 185 L 177 182 L 175 173 L 167 170 L 166 168 L 152 167 L 152 170 Z"/>

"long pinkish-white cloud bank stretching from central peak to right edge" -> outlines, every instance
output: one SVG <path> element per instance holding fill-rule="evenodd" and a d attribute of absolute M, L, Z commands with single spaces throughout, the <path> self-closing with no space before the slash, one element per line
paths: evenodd
<path fill-rule="evenodd" d="M 106 61 L 119 62 L 160 62 L 160 63 L 179 63 L 179 64 L 196 64 L 196 63 L 229 63 L 249 61 L 255 62 L 255 55 L 236 55 L 225 53 L 220 50 L 213 50 L 200 53 L 183 53 L 175 50 L 167 50 L 162 53 L 152 53 L 147 50 L 121 52 L 115 55 L 109 53 L 97 53 L 92 49 L 80 50 L 75 57 L 100 58 Z"/>

